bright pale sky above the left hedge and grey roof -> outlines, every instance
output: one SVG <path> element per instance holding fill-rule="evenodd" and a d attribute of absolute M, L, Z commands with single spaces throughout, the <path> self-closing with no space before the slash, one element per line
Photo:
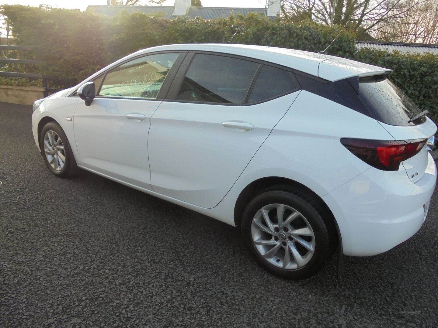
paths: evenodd
<path fill-rule="evenodd" d="M 147 4 L 147 0 L 142 1 Z M 175 0 L 166 0 L 164 6 L 173 6 Z M 201 0 L 204 7 L 265 7 L 266 0 Z M 52 7 L 85 10 L 89 4 L 106 5 L 106 0 L 0 0 L 0 4 L 22 4 L 39 6 L 48 4 Z"/>

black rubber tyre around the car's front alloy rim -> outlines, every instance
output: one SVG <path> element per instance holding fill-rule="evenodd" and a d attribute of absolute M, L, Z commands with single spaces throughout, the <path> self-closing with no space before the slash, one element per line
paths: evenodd
<path fill-rule="evenodd" d="M 44 137 L 46 136 L 47 131 L 54 131 L 58 137 L 61 139 L 62 145 L 64 146 L 64 167 L 61 170 L 56 170 L 53 168 L 46 157 L 44 152 Z M 41 135 L 39 136 L 39 145 L 41 148 L 41 155 L 44 158 L 44 162 L 49 170 L 59 178 L 66 178 L 77 172 L 78 167 L 76 166 L 76 161 L 74 160 L 73 153 L 71 152 L 70 143 L 68 142 L 67 136 L 64 133 L 64 130 L 60 127 L 57 122 L 48 122 L 41 130 Z M 61 150 L 62 152 L 62 150 Z"/>

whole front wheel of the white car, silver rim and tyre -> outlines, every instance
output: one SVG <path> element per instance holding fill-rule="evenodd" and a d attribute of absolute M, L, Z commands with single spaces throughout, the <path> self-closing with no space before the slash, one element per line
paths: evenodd
<path fill-rule="evenodd" d="M 42 128 L 40 147 L 46 166 L 54 175 L 67 177 L 76 171 L 70 143 L 56 122 L 49 122 Z"/>

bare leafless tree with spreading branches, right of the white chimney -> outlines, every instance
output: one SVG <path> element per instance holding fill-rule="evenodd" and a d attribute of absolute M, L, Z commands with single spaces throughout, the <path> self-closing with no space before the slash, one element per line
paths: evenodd
<path fill-rule="evenodd" d="M 283 0 L 282 13 L 293 19 L 321 24 L 346 25 L 360 33 L 373 34 L 411 14 L 413 7 L 427 0 Z M 359 34 L 360 34 L 359 33 Z"/>

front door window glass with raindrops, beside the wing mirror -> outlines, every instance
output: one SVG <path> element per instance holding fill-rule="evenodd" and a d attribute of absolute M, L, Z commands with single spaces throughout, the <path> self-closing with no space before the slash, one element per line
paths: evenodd
<path fill-rule="evenodd" d="M 99 96 L 152 98 L 158 91 L 179 53 L 160 53 L 133 59 L 110 70 Z M 96 88 L 99 87 L 96 85 Z"/>

